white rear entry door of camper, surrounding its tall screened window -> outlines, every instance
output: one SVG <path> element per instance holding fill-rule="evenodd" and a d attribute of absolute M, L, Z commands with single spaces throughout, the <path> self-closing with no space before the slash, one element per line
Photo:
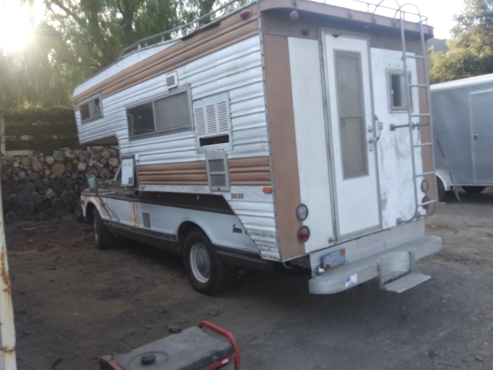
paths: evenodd
<path fill-rule="evenodd" d="M 368 175 L 344 179 L 342 166 L 342 148 L 340 140 L 340 120 L 335 76 L 334 50 L 354 51 L 361 56 L 363 79 L 363 101 L 365 128 L 373 124 L 371 101 L 371 76 L 369 72 L 368 41 L 353 37 L 324 36 L 326 46 L 327 84 L 332 129 L 333 173 L 335 178 L 336 214 L 339 235 L 353 234 L 380 224 L 379 193 L 376 158 L 372 144 L 366 141 Z M 379 95 L 381 96 L 381 95 Z M 366 129 L 367 139 L 372 138 Z M 359 145 L 359 144 L 358 144 Z"/>

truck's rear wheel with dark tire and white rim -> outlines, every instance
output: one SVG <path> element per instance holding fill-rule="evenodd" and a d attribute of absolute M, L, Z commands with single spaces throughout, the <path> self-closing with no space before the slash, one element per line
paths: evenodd
<path fill-rule="evenodd" d="M 188 280 L 197 292 L 216 296 L 235 284 L 237 269 L 219 257 L 200 229 L 188 233 L 183 246 L 183 263 Z"/>

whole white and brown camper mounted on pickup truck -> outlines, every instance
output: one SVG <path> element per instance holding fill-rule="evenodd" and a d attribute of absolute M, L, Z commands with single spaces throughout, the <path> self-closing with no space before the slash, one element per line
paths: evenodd
<path fill-rule="evenodd" d="M 427 280 L 432 28 L 409 4 L 351 3 L 232 1 L 76 86 L 80 142 L 117 144 L 122 162 L 82 194 L 97 245 L 180 253 L 206 294 L 273 264 L 309 268 L 314 294 Z"/>

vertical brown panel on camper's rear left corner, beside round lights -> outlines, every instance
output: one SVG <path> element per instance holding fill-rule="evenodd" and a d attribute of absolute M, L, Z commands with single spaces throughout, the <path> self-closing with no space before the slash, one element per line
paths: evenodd
<path fill-rule="evenodd" d="M 301 203 L 287 37 L 263 35 L 272 167 L 282 259 L 305 253 L 297 237 Z"/>

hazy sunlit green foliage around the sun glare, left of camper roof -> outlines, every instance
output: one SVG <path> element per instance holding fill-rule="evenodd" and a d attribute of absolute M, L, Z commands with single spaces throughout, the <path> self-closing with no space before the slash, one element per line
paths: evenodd
<path fill-rule="evenodd" d="M 19 0 L 28 1 L 31 0 Z M 120 50 L 208 13 L 224 0 L 43 0 L 46 20 L 22 53 L 0 50 L 0 117 L 26 106 L 70 104 L 73 87 Z"/>

